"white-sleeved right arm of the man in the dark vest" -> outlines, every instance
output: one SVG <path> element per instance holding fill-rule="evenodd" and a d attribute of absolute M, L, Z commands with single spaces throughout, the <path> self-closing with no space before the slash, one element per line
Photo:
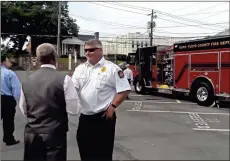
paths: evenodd
<path fill-rule="evenodd" d="M 78 92 L 71 80 L 71 77 L 66 75 L 64 80 L 64 91 L 66 101 L 66 111 L 70 115 L 77 115 L 80 111 Z"/>

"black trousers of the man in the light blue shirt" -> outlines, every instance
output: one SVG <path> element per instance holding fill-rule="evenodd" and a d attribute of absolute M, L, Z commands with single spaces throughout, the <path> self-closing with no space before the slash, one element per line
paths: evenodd
<path fill-rule="evenodd" d="M 14 139 L 14 117 L 17 102 L 12 96 L 1 95 L 1 120 L 3 122 L 3 142 L 10 143 Z"/>

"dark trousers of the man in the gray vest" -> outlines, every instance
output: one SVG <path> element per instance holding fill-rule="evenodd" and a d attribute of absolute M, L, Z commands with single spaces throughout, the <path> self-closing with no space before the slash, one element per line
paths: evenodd
<path fill-rule="evenodd" d="M 66 161 L 67 135 L 24 134 L 24 161 Z"/>

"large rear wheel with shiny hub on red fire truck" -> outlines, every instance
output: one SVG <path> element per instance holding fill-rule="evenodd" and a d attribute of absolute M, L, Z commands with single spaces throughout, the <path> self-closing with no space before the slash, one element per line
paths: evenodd
<path fill-rule="evenodd" d="M 215 103 L 215 96 L 212 87 L 201 82 L 196 88 L 196 101 L 201 106 L 211 106 Z"/>

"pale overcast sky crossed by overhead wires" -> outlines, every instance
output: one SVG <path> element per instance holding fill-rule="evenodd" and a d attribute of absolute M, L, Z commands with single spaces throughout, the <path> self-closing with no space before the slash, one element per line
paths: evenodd
<path fill-rule="evenodd" d="M 147 32 L 151 9 L 156 10 L 157 36 L 204 36 L 229 28 L 229 2 L 69 2 L 69 14 L 77 19 L 79 33 L 98 31 L 100 37 Z"/>

